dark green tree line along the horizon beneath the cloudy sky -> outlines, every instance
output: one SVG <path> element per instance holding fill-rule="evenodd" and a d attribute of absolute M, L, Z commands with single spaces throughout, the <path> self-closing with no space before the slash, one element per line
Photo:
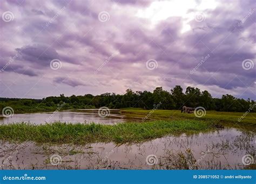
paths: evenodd
<path fill-rule="evenodd" d="M 221 98 L 213 98 L 207 91 L 188 86 L 183 88 L 176 86 L 170 91 L 157 87 L 151 91 L 132 91 L 127 89 L 123 95 L 115 93 L 104 93 L 93 96 L 91 94 L 64 96 L 49 96 L 42 100 L 0 98 L 0 109 L 6 106 L 16 108 L 18 112 L 54 110 L 64 103 L 65 109 L 83 109 L 108 107 L 110 109 L 120 108 L 143 108 L 153 109 L 159 103 L 158 109 L 172 110 L 187 107 L 204 107 L 206 110 L 245 112 L 255 103 L 253 100 L 235 98 L 232 95 L 223 95 Z M 252 110 L 255 112 L 255 109 Z"/>

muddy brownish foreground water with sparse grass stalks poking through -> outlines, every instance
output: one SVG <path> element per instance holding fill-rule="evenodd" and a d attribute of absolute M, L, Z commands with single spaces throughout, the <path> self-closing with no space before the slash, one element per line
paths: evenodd
<path fill-rule="evenodd" d="M 249 154 L 255 160 L 255 143 L 255 133 L 233 128 L 119 146 L 113 143 L 52 146 L 2 141 L 0 168 L 243 169 L 248 164 L 248 159 L 242 160 L 244 155 Z"/>

